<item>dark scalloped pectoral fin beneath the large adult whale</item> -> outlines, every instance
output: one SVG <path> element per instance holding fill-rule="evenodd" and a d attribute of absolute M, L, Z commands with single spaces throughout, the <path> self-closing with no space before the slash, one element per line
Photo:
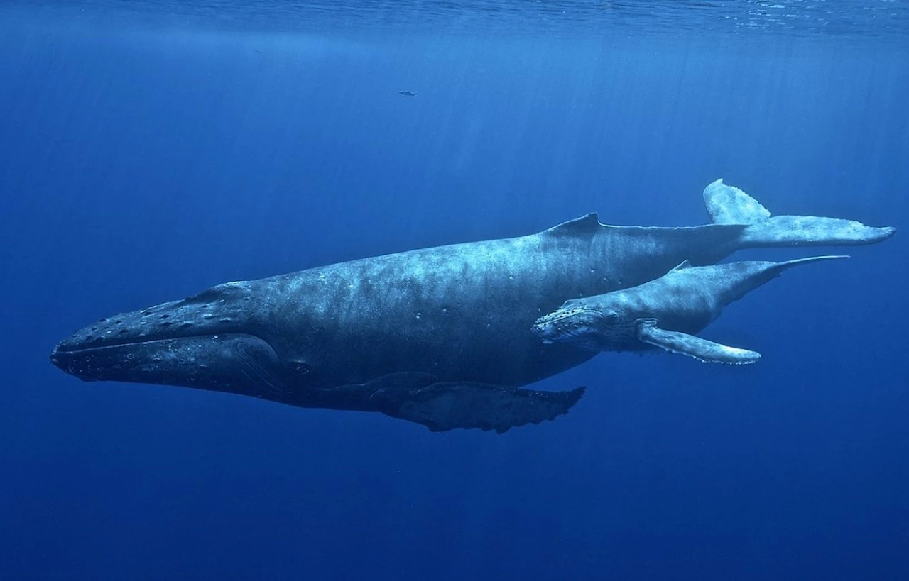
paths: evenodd
<path fill-rule="evenodd" d="M 584 395 L 584 388 L 536 391 L 473 381 L 419 385 L 422 378 L 410 375 L 399 373 L 371 381 L 385 385 L 370 401 L 387 416 L 423 424 L 434 432 L 480 428 L 501 434 L 509 428 L 564 415 Z"/>

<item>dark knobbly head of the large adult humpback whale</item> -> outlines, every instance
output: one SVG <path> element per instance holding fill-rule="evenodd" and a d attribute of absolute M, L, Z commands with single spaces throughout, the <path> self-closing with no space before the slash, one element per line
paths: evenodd
<path fill-rule="evenodd" d="M 309 372 L 282 349 L 248 282 L 98 320 L 50 359 L 85 381 L 127 381 L 285 399 Z"/>

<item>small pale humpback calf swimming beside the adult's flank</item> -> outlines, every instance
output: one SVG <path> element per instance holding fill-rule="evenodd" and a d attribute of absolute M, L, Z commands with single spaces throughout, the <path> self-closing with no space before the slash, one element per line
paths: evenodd
<path fill-rule="evenodd" d="M 786 269 L 847 256 L 815 256 L 795 261 L 742 261 L 691 266 L 684 261 L 654 281 L 623 291 L 568 300 L 536 320 L 533 331 L 544 343 L 567 342 L 586 350 L 646 350 L 652 346 L 705 363 L 754 363 L 761 354 L 695 337 L 739 300 Z"/>

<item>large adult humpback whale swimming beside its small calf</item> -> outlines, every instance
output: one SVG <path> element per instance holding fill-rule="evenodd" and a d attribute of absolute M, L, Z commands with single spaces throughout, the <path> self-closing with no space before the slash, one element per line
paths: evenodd
<path fill-rule="evenodd" d="M 565 300 L 651 281 L 684 260 L 744 248 L 883 241 L 893 228 L 771 217 L 722 180 L 714 223 L 607 226 L 588 214 L 529 236 L 441 246 L 217 285 L 102 319 L 51 360 L 80 379 L 226 391 L 314 408 L 380 411 L 433 430 L 554 419 L 582 389 L 521 386 L 590 359 L 546 345 L 534 320 Z"/>

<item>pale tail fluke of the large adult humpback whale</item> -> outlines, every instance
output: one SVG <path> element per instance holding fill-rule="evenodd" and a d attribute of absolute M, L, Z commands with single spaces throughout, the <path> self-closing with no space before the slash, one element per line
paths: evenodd
<path fill-rule="evenodd" d="M 824 216 L 771 216 L 760 202 L 717 180 L 704 188 L 704 204 L 717 224 L 745 224 L 744 246 L 861 245 L 884 241 L 895 228 Z"/>

